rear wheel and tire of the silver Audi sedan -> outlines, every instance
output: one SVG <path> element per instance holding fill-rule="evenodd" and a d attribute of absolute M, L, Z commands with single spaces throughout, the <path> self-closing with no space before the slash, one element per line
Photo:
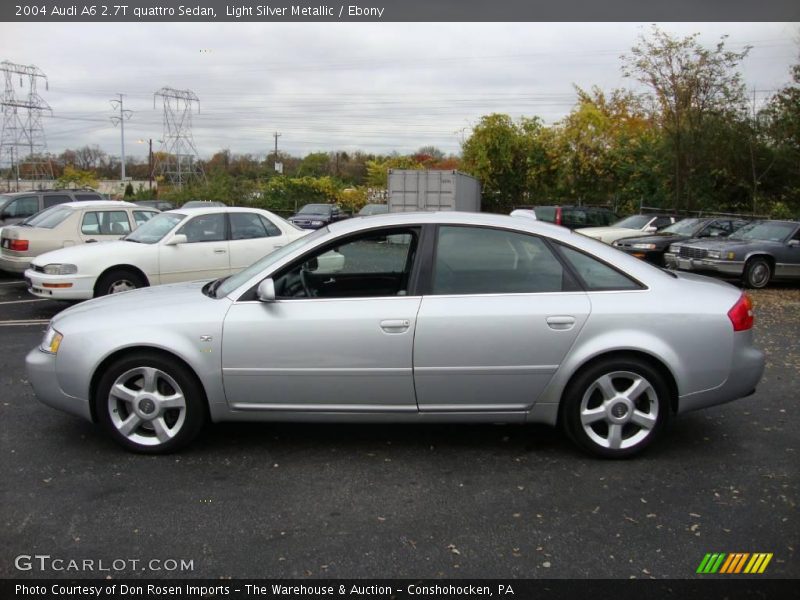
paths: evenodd
<path fill-rule="evenodd" d="M 628 458 L 658 437 L 669 417 L 664 376 L 635 358 L 601 360 L 579 372 L 561 400 L 561 423 L 583 450 Z"/>

